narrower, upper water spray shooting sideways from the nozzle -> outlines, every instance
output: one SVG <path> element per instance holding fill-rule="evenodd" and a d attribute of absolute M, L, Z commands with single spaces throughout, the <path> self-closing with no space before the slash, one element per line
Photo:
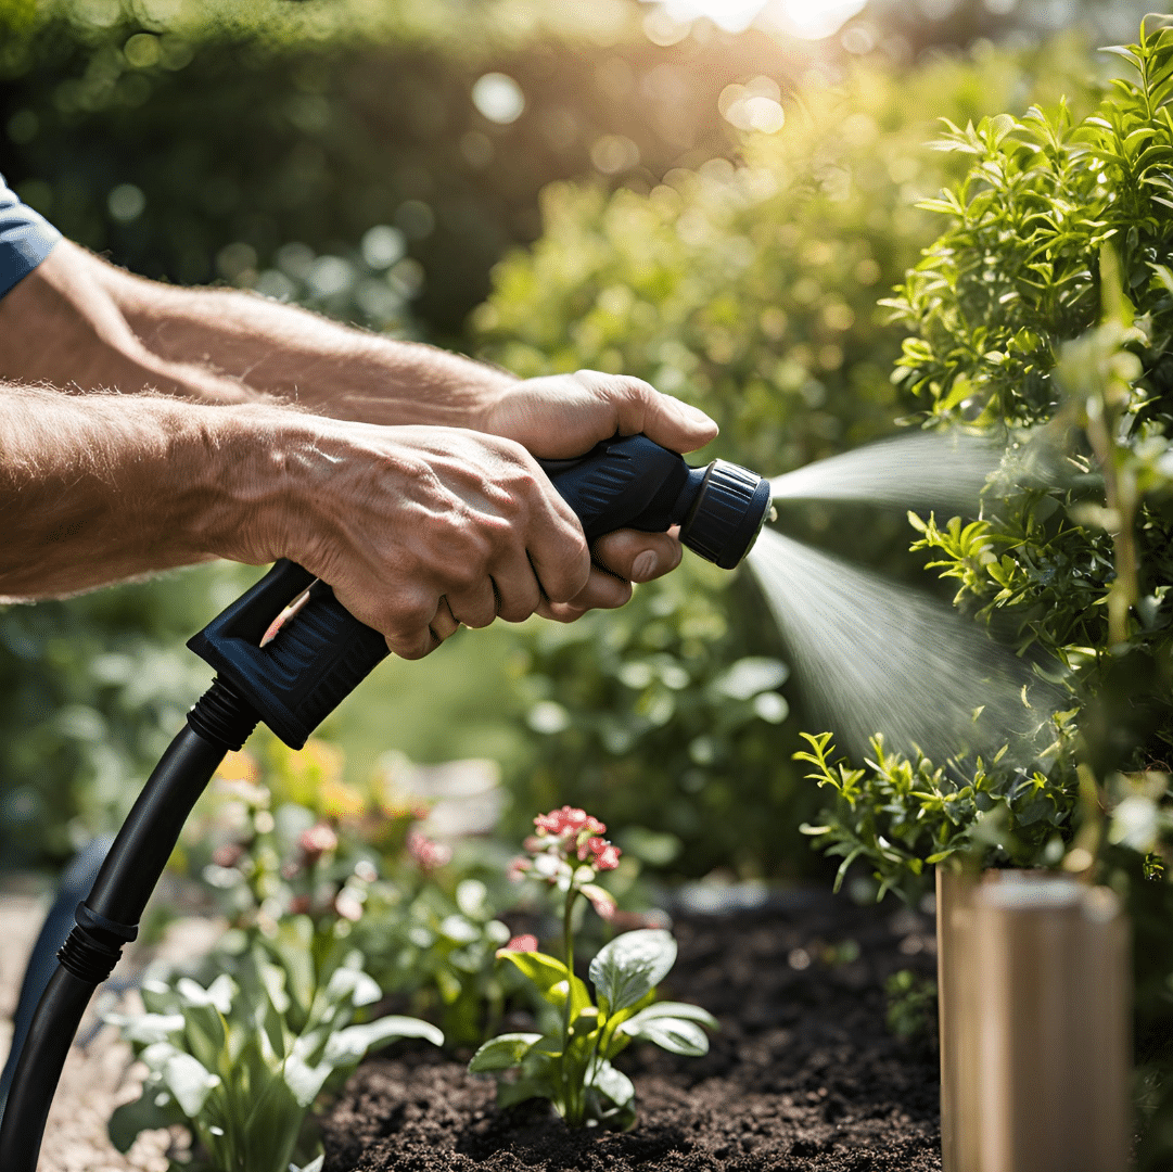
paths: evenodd
<path fill-rule="evenodd" d="M 769 485 L 775 501 L 859 501 L 972 514 L 1005 446 L 984 436 L 913 432 L 808 463 Z"/>

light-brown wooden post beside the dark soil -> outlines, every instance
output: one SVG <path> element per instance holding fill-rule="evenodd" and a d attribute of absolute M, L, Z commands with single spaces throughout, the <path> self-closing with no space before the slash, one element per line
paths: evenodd
<path fill-rule="evenodd" d="M 937 869 L 944 1172 L 1124 1172 L 1128 929 L 1047 872 Z"/>

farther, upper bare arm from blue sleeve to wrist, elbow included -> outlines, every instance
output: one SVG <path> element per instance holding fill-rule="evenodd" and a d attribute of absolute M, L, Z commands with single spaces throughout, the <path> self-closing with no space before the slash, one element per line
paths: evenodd
<path fill-rule="evenodd" d="M 157 391 L 210 405 L 296 402 L 371 424 L 480 427 L 516 380 L 418 343 L 237 290 L 181 289 L 69 241 L 0 300 L 0 379 Z"/>

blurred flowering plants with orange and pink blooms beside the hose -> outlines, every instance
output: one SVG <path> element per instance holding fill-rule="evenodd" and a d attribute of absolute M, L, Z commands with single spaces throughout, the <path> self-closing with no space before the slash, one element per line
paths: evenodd
<path fill-rule="evenodd" d="M 228 758 L 184 833 L 213 906 L 263 935 L 308 917 L 314 949 L 350 941 L 385 994 L 439 1021 L 450 1044 L 479 1044 L 504 1000 L 495 954 L 509 929 L 494 894 L 420 831 L 426 808 L 347 785 L 335 746 L 259 744 Z"/>

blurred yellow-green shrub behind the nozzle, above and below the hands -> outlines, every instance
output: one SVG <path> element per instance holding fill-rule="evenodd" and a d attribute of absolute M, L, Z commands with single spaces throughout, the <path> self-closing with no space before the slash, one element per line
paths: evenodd
<path fill-rule="evenodd" d="M 552 188 L 545 235 L 497 267 L 474 317 L 482 352 L 521 374 L 646 378 L 718 419 L 721 455 L 771 474 L 891 431 L 914 399 L 889 377 L 901 332 L 876 299 L 931 241 L 916 195 L 967 163 L 923 148 L 928 118 L 979 117 L 1036 73 L 1044 93 L 1063 83 L 1090 102 L 1072 45 L 911 73 L 860 66 L 840 89 L 798 94 L 737 167 L 672 171 L 646 196 Z M 820 536 L 890 558 L 903 528 L 856 516 Z M 789 761 L 796 722 L 777 723 L 782 673 L 761 698 L 723 685 L 735 664 L 777 656 L 762 615 L 748 583 L 696 565 L 619 615 L 536 631 L 524 685 L 543 737 L 517 808 L 570 800 L 667 829 L 689 874 L 809 867 L 794 827 L 815 807 Z"/>

